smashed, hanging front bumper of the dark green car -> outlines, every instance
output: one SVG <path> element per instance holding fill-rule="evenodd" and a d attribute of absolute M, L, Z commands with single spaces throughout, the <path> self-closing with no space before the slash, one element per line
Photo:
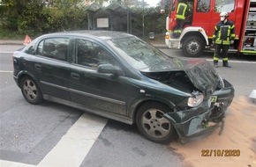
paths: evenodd
<path fill-rule="evenodd" d="M 181 142 L 199 140 L 216 128 L 220 128 L 219 134 L 222 134 L 225 111 L 234 98 L 233 86 L 226 80 L 223 83 L 224 87 L 214 91 L 200 106 L 164 115 L 176 128 Z"/>

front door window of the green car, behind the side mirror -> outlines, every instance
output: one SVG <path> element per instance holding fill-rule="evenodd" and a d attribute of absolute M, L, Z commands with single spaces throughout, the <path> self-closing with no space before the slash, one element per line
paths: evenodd
<path fill-rule="evenodd" d="M 76 40 L 77 63 L 98 69 L 100 64 L 112 64 L 115 62 L 111 54 L 103 47 L 88 40 Z"/>

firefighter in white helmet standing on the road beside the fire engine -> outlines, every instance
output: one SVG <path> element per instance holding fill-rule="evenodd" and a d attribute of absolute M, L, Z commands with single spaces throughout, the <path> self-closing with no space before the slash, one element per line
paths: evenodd
<path fill-rule="evenodd" d="M 218 67 L 218 61 L 222 50 L 222 65 L 230 68 L 228 62 L 228 50 L 235 39 L 235 25 L 230 21 L 229 14 L 226 11 L 220 14 L 221 21 L 215 25 L 215 33 L 213 35 L 213 43 L 215 44 L 214 66 Z"/>

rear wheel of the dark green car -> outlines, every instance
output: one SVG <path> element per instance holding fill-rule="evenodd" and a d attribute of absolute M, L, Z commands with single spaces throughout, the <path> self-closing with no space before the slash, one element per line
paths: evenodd
<path fill-rule="evenodd" d="M 26 101 L 32 105 L 37 105 L 42 102 L 41 90 L 29 76 L 24 76 L 20 82 L 21 92 Z"/>

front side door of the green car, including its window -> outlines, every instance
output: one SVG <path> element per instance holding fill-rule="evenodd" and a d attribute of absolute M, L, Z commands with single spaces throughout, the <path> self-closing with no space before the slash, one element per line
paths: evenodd
<path fill-rule="evenodd" d="M 75 62 L 71 65 L 71 100 L 98 112 L 126 114 L 125 84 L 120 77 L 98 73 L 100 64 L 120 68 L 110 52 L 93 40 L 75 41 Z"/>

